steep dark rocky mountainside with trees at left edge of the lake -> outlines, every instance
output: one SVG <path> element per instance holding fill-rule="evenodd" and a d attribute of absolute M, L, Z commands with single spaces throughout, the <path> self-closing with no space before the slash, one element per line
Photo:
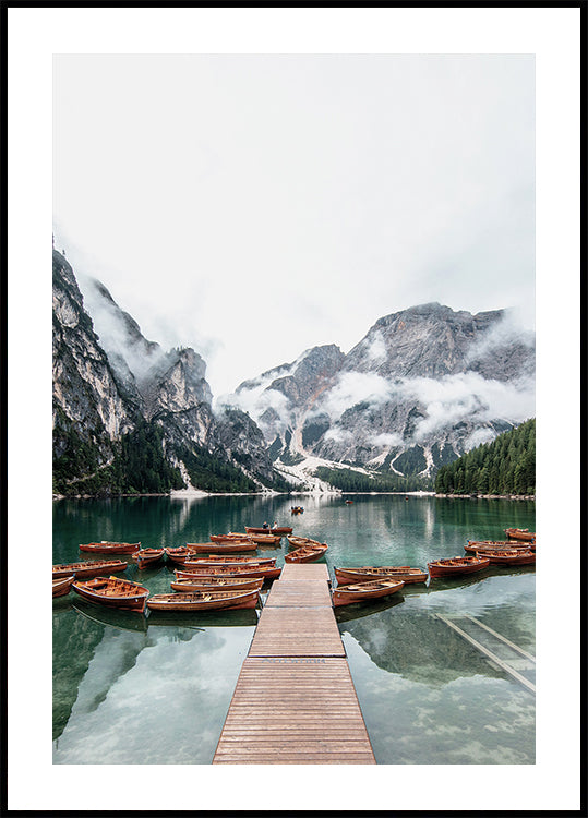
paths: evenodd
<path fill-rule="evenodd" d="M 98 281 L 93 317 L 53 250 L 53 483 L 60 494 L 284 488 L 262 432 L 238 408 L 214 412 L 206 363 L 165 351 Z"/>

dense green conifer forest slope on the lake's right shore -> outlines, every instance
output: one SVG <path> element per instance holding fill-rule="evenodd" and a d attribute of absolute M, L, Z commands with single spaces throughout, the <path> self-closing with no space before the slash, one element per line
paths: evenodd
<path fill-rule="evenodd" d="M 535 418 L 442 466 L 440 494 L 535 494 Z"/>

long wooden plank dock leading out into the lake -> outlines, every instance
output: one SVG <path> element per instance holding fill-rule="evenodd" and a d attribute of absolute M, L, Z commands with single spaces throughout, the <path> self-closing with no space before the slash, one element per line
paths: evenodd
<path fill-rule="evenodd" d="M 374 765 L 324 564 L 267 596 L 213 763 Z"/>

